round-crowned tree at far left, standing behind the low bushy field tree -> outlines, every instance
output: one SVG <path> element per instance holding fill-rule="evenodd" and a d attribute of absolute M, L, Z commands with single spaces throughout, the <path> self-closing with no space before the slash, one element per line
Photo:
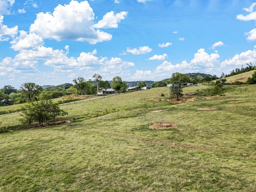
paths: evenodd
<path fill-rule="evenodd" d="M 19 93 L 22 98 L 25 98 L 27 101 L 36 100 L 37 96 L 43 90 L 42 86 L 36 85 L 35 83 L 23 83 L 20 86 Z"/>

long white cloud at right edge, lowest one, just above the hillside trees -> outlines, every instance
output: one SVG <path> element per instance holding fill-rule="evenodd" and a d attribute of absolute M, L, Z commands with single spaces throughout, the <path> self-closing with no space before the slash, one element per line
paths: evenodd
<path fill-rule="evenodd" d="M 246 52 L 242 52 L 240 54 L 236 54 L 231 59 L 226 59 L 221 62 L 221 67 L 226 66 L 242 66 L 246 63 L 256 63 L 256 46 L 254 46 L 253 50 L 247 50 Z"/>

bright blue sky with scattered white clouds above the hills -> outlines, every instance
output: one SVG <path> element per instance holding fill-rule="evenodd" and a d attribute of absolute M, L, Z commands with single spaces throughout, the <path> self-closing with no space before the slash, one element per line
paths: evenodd
<path fill-rule="evenodd" d="M 0 88 L 256 65 L 251 0 L 0 0 Z"/>

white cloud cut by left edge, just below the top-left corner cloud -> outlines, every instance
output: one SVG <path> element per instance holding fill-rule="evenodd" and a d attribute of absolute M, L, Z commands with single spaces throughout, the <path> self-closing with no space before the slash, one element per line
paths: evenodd
<path fill-rule="evenodd" d="M 8 41 L 9 36 L 14 38 L 14 36 L 18 33 L 18 26 L 8 28 L 8 26 L 2 24 L 3 21 L 4 16 L 0 15 L 0 41 Z"/>

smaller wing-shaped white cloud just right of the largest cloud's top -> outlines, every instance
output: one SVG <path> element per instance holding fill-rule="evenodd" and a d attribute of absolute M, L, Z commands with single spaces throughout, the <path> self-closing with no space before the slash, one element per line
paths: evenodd
<path fill-rule="evenodd" d="M 95 28 L 118 28 L 118 23 L 123 20 L 128 12 L 122 11 L 120 13 L 114 13 L 114 11 L 108 12 L 103 16 L 97 24 L 94 24 Z"/>

